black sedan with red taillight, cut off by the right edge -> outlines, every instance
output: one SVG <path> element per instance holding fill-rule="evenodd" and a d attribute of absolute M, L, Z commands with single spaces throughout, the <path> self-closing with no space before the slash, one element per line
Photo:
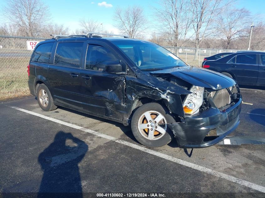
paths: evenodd
<path fill-rule="evenodd" d="M 265 53 L 244 51 L 205 61 L 203 68 L 220 72 L 238 84 L 265 86 Z"/>

